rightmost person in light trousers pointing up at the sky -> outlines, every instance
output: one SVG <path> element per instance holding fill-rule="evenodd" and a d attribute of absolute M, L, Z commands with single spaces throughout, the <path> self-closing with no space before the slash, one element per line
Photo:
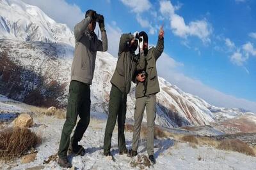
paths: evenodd
<path fill-rule="evenodd" d="M 148 50 L 148 36 L 145 32 L 140 32 L 139 36 L 143 37 L 143 53 L 146 56 L 146 67 L 143 73 L 138 72 L 136 76 L 136 104 L 134 111 L 134 131 L 132 138 L 132 149 L 129 150 L 128 156 L 134 157 L 138 154 L 138 144 L 140 139 L 141 122 L 143 113 L 146 108 L 147 111 L 147 152 L 148 159 L 152 164 L 156 164 L 154 158 L 154 121 L 156 118 L 156 94 L 160 91 L 159 82 L 157 78 L 156 60 L 160 57 L 164 50 L 164 31 L 161 27 L 159 31 L 156 48 L 152 47 Z M 145 75 L 145 81 L 143 76 Z"/>

